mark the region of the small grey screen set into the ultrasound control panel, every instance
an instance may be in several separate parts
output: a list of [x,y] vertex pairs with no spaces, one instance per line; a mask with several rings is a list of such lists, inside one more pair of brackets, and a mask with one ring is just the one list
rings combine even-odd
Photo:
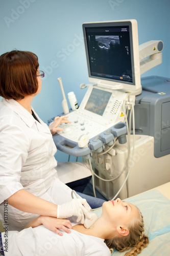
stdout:
[[110,92],[93,89],[85,106],[85,110],[102,116],[110,99],[110,96]]

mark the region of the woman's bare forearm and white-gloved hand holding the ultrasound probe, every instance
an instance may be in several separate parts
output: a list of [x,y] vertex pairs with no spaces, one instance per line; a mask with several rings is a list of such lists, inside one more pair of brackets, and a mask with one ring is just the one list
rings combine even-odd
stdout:
[[84,215],[91,217],[90,206],[85,199],[72,199],[62,205],[56,205],[44,199],[38,198],[25,189],[20,189],[8,198],[9,205],[25,212],[42,216],[66,219],[77,216],[77,222],[84,223]]

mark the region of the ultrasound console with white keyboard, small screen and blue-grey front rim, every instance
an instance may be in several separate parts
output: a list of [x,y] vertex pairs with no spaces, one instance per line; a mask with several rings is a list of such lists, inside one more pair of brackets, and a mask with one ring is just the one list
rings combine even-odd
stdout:
[[[103,143],[109,143],[114,139],[114,125],[125,120],[124,100],[127,93],[103,89],[98,86],[89,86],[79,109],[67,114],[71,123],[61,124],[63,131],[54,136],[54,141],[59,150],[65,150],[70,155],[77,148],[79,138],[87,135],[90,150],[97,150]],[[124,127],[124,131],[120,128]],[[118,126],[119,131],[125,134],[125,125]],[[114,136],[113,136],[114,134]],[[120,132],[121,135],[121,132]],[[117,134],[116,134],[117,136]],[[97,143],[99,141],[99,143]]]

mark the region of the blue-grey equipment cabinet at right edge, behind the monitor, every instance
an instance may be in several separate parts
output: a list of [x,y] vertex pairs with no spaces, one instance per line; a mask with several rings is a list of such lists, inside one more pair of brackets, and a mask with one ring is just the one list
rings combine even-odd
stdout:
[[167,78],[141,79],[143,91],[136,97],[135,133],[154,137],[154,156],[170,154],[170,88]]

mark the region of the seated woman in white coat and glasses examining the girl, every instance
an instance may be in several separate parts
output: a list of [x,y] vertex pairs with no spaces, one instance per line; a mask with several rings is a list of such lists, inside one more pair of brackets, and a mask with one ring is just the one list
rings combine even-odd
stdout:
[[[56,178],[52,134],[68,122],[66,117],[48,127],[31,106],[43,76],[32,52],[15,50],[0,56],[0,217],[8,230],[20,231],[38,215],[75,215],[81,223],[84,215],[90,218],[86,200],[71,199],[71,189]],[[58,228],[69,232],[70,222],[60,219]]]

